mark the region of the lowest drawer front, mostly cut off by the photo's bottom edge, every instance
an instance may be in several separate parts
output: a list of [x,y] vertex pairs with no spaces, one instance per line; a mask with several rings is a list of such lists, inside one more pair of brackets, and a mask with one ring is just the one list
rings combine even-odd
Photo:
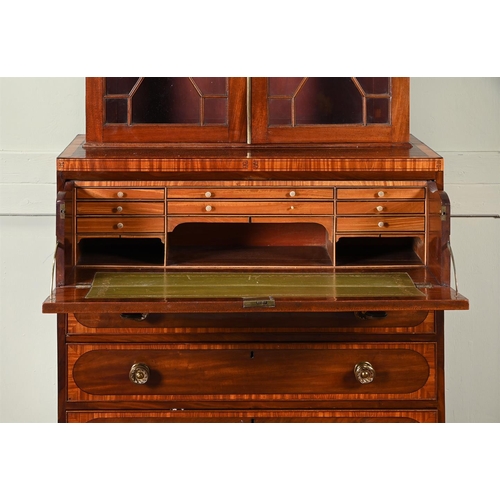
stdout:
[[69,423],[436,423],[435,410],[70,411]]

